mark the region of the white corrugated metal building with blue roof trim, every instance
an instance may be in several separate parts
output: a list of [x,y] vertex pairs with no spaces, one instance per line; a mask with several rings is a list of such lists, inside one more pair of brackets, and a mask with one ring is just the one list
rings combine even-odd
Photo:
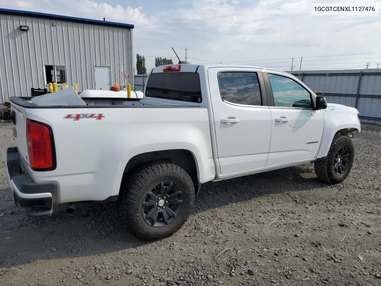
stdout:
[[131,24],[0,9],[0,103],[56,82],[78,90],[134,83]]

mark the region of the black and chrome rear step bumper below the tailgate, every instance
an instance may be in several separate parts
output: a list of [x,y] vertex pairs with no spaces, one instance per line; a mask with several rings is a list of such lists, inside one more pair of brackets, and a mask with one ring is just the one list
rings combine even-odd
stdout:
[[5,162],[16,206],[23,208],[29,217],[51,215],[58,205],[57,185],[35,183],[25,172],[17,147],[7,149]]

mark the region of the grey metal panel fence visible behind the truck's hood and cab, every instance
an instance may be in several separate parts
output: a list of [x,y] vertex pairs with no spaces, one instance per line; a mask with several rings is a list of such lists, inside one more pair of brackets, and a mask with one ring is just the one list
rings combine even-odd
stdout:
[[[357,108],[361,122],[381,124],[381,69],[288,72],[328,102]],[[143,91],[146,80],[146,74],[135,75],[135,89]]]

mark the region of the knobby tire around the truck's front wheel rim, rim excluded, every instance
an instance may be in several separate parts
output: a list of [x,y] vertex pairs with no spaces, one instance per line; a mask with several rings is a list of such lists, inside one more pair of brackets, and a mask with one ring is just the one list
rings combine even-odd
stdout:
[[[334,170],[335,155],[342,148],[347,147],[349,151],[349,163],[343,174],[338,175]],[[323,182],[329,184],[338,184],[343,182],[351,171],[354,159],[354,147],[352,140],[344,135],[336,134],[333,137],[330,150],[328,151],[327,157],[324,160],[315,162],[315,173],[317,177]]]

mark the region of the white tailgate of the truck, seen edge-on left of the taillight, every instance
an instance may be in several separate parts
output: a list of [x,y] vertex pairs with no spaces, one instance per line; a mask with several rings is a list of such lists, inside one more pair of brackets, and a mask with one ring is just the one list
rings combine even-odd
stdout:
[[29,165],[28,146],[26,138],[25,108],[11,102],[11,122],[13,129],[14,146],[17,146],[20,157]]

